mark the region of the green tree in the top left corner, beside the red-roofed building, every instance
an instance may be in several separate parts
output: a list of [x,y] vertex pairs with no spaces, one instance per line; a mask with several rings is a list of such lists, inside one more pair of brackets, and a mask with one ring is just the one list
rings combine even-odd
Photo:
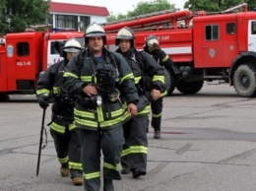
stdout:
[[44,24],[50,0],[1,0],[0,34],[24,32],[31,25]]

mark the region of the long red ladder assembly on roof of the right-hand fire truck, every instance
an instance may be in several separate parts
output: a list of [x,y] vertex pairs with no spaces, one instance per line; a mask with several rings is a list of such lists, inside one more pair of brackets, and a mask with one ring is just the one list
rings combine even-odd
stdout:
[[[144,31],[147,29],[157,29],[162,26],[175,28],[178,21],[185,21],[185,25],[188,26],[190,20],[195,15],[189,10],[166,10],[105,24],[103,28],[105,32],[117,32],[123,27],[128,27],[132,30],[143,29]],[[199,15],[205,15],[205,12],[200,12]]]

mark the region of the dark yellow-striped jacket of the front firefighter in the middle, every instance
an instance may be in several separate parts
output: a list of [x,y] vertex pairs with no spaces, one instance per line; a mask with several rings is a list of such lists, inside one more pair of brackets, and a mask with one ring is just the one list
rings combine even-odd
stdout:
[[[99,71],[103,71],[104,76],[108,79],[99,79],[97,77]],[[103,75],[102,78],[104,78]],[[111,94],[108,84],[111,84],[109,85],[111,90],[118,90],[121,93],[117,100],[112,101],[107,97]],[[94,102],[93,99],[96,97],[85,96],[83,89],[87,85],[95,85],[99,95],[101,92],[108,93],[100,95],[102,97],[101,105],[84,103],[85,99],[92,99]],[[63,88],[70,95],[79,97],[74,110],[76,125],[95,131],[98,126],[101,129],[106,129],[120,125],[129,117],[127,103],[137,102],[139,99],[134,85],[134,76],[128,64],[120,54],[106,49],[103,49],[99,59],[96,59],[89,50],[84,50],[83,53],[73,56],[65,69]]]

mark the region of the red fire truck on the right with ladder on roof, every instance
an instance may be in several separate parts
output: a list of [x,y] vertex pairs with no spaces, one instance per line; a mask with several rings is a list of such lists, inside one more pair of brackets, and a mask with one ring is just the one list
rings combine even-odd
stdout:
[[196,94],[205,81],[229,83],[239,96],[256,95],[256,12],[247,11],[246,3],[222,13],[161,12],[106,25],[109,49],[116,49],[115,35],[123,27],[134,30],[138,49],[148,35],[159,37],[174,61],[168,95],[174,88]]

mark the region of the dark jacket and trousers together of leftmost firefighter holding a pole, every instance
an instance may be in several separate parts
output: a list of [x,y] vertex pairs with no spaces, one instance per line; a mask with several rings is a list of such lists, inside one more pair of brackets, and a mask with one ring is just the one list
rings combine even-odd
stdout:
[[71,178],[82,176],[78,129],[74,121],[74,99],[62,91],[62,77],[68,60],[51,65],[37,82],[37,96],[52,96],[50,133],[57,157],[62,165],[69,164]]

